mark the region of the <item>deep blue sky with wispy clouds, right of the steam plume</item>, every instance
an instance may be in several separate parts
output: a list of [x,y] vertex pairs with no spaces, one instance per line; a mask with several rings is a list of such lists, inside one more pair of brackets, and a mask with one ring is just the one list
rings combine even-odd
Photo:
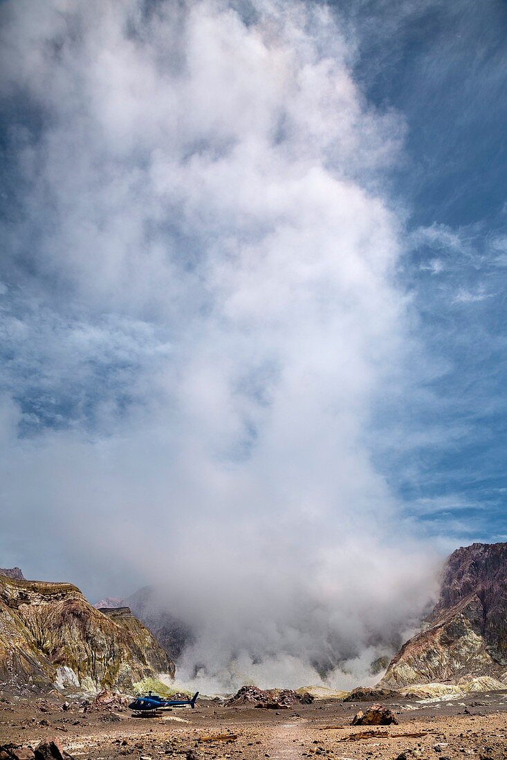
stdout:
[[415,481],[392,477],[403,497],[435,500],[435,512],[421,516],[426,529],[502,540],[507,5],[401,7],[407,13],[397,16],[393,4],[352,5],[368,19],[356,71],[368,100],[407,122],[393,189],[407,204],[414,245],[400,276],[442,362],[427,386],[435,403],[407,398],[405,411],[415,426],[455,432],[418,452]]

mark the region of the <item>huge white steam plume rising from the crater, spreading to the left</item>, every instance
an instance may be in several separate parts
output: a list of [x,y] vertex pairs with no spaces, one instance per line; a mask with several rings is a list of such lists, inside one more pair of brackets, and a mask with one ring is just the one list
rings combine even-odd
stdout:
[[407,346],[403,123],[317,4],[2,13],[6,551],[163,584],[189,677],[347,684],[433,572],[369,435]]

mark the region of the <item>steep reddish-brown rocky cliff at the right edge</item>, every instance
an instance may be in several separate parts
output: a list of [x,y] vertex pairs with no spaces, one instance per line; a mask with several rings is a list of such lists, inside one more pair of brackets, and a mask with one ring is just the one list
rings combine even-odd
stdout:
[[507,543],[474,543],[448,558],[440,597],[422,630],[395,655],[381,686],[507,683]]

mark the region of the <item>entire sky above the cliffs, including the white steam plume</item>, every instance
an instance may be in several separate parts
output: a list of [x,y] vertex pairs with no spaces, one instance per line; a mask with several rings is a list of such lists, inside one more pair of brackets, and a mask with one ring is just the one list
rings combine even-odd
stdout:
[[0,565],[366,673],[507,536],[507,5],[0,14]]

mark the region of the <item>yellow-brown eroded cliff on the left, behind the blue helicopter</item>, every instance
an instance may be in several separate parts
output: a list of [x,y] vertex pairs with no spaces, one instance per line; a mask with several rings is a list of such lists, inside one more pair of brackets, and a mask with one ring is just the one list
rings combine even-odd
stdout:
[[0,681],[8,688],[132,689],[174,663],[130,610],[104,614],[72,584],[0,576]]

